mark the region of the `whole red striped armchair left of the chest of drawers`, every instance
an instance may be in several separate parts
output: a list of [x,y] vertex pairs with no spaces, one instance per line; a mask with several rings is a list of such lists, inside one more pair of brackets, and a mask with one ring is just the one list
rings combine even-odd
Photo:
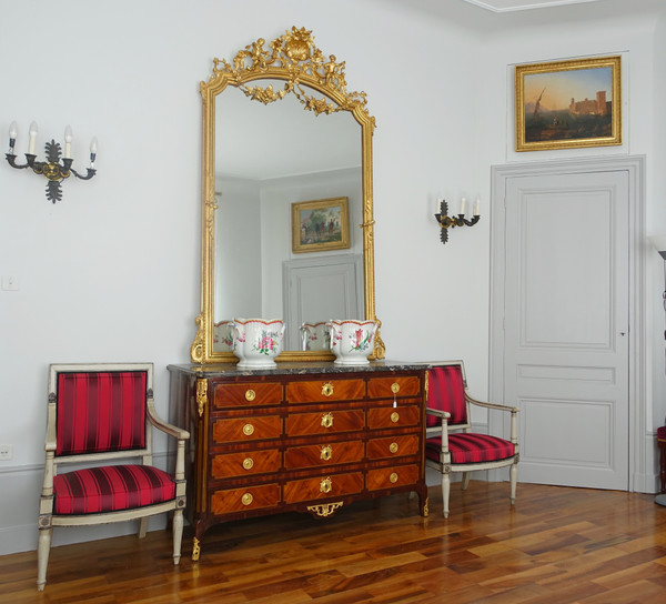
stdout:
[[[152,376],[152,363],[50,365],[39,591],[47,583],[53,526],[139,519],[143,537],[149,516],[173,512],[173,563],[179,563],[190,434],[158,417]],[[152,465],[152,426],[178,440],[173,475]],[[83,469],[59,473],[74,463]]]

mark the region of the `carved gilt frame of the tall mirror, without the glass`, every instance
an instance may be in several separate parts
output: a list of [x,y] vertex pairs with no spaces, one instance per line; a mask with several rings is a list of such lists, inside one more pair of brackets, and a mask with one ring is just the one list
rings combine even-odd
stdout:
[[[312,32],[293,27],[270,44],[259,39],[240,50],[231,62],[214,59],[213,73],[201,82],[203,110],[202,141],[202,223],[201,223],[201,312],[196,316],[196,335],[190,348],[193,363],[229,363],[238,359],[232,352],[213,350],[215,295],[215,98],[226,87],[241,90],[250,101],[264,104],[279,102],[292,94],[306,111],[316,115],[349,111],[361,125],[362,144],[362,215],[364,309],[365,320],[381,322],[375,316],[374,299],[374,218],[372,197],[372,134],[375,120],[366,109],[364,92],[347,92],[345,63],[327,59],[314,46]],[[262,82],[262,80],[264,80]],[[275,81],[283,87],[273,85]],[[232,319],[232,318],[229,318]],[[333,318],[329,318],[333,319]],[[345,318],[346,319],[346,318]],[[384,343],[377,329],[371,359],[383,359]],[[284,351],[278,362],[332,361],[329,351]]]

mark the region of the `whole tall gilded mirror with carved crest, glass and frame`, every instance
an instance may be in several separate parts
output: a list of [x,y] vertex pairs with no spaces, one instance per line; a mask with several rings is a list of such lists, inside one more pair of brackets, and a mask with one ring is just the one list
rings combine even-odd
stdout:
[[[231,62],[215,59],[211,78],[201,82],[201,312],[192,362],[238,360],[224,332],[236,316],[284,320],[289,338],[279,362],[333,360],[325,346],[310,350],[304,325],[317,329],[330,319],[380,323],[375,121],[365,93],[347,92],[344,70],[344,62],[315,47],[311,31],[293,27],[270,43],[249,44]],[[344,213],[334,214],[337,208]],[[321,251],[316,239],[299,245],[294,212],[322,209],[334,217],[329,234],[339,219],[349,220],[346,239]],[[371,359],[384,353],[377,330]]]

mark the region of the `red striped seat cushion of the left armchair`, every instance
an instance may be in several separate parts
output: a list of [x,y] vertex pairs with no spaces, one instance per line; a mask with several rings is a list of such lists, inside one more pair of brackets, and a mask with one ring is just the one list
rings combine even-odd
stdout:
[[97,514],[173,500],[175,483],[150,465],[105,465],[57,475],[53,495],[54,514]]

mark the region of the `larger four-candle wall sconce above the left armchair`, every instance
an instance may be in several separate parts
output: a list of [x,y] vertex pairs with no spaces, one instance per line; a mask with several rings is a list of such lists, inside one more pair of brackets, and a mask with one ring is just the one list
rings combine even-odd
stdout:
[[4,157],[12,168],[22,170],[23,168],[31,168],[36,174],[42,174],[48,179],[47,182],[47,199],[53,203],[62,199],[62,187],[61,182],[69,178],[70,174],[74,174],[78,179],[90,180],[97,173],[94,170],[94,160],[97,158],[97,139],[93,137],[90,142],[90,168],[87,169],[85,175],[80,174],[72,168],[73,159],[71,157],[72,150],[72,129],[68,125],[64,129],[64,153],[62,163],[60,163],[60,154],[62,152],[60,143],[51,140],[44,145],[44,152],[47,161],[37,161],[34,154],[34,145],[37,142],[37,123],[32,122],[29,130],[28,139],[28,153],[26,153],[26,163],[17,163],[17,155],[14,154],[14,145],[17,142],[18,127],[17,122],[11,122],[9,127],[9,153]]

